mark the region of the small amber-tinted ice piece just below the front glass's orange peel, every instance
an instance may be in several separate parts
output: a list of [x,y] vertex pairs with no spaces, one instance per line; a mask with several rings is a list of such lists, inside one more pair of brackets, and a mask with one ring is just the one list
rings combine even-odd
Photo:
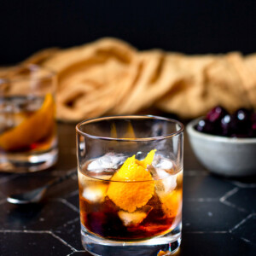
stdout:
[[145,206],[135,212],[119,211],[118,215],[125,226],[137,225],[143,222],[152,209],[153,207]]

